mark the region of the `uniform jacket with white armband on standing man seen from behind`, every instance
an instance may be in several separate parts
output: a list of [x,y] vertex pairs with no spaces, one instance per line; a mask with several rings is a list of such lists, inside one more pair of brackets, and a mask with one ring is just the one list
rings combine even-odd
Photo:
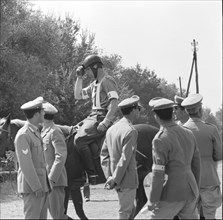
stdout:
[[[168,176],[165,183],[164,173]],[[200,154],[194,135],[174,122],[166,124],[153,139],[150,201],[196,198],[199,181]]]

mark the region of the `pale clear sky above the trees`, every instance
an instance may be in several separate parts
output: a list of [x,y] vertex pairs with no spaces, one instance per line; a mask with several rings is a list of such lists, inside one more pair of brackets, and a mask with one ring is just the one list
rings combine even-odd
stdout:
[[[122,66],[155,71],[187,89],[195,39],[199,93],[203,106],[215,113],[222,106],[222,3],[198,1],[32,0],[34,9],[64,18],[95,34],[103,55],[118,54]],[[190,93],[196,93],[195,69]]]

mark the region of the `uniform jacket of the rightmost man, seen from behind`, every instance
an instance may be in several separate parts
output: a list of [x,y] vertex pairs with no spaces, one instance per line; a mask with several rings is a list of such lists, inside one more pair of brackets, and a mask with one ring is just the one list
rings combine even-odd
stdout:
[[193,132],[200,150],[201,187],[220,185],[215,162],[222,160],[222,140],[217,127],[199,118],[190,118],[184,127]]

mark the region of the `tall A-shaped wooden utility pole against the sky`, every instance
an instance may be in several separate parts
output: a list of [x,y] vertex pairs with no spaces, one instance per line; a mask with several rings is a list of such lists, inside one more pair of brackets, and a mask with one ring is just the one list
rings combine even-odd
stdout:
[[191,78],[192,78],[194,66],[195,66],[195,74],[196,74],[196,78],[195,78],[195,82],[196,82],[196,93],[199,93],[198,71],[197,71],[197,50],[198,50],[198,48],[196,47],[198,45],[198,42],[196,42],[195,40],[193,40],[193,42],[191,43],[191,45],[193,46],[193,61],[192,61],[191,71],[190,71],[190,77],[189,77],[188,85],[187,85],[186,97],[189,94],[190,82],[191,82]]

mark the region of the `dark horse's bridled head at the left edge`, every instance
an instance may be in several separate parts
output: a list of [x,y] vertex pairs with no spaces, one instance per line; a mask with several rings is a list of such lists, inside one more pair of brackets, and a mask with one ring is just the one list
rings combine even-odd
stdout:
[[13,141],[10,140],[10,114],[6,118],[0,119],[0,157],[5,157],[5,151],[12,148]]

